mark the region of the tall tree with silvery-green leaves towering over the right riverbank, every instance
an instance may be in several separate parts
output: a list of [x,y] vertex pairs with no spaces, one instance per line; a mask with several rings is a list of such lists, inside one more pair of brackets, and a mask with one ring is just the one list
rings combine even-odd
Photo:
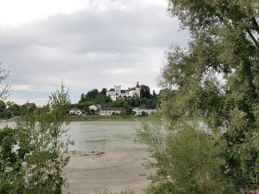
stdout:
[[[163,115],[171,130],[183,129],[179,130],[179,137],[186,134],[186,127],[190,124],[183,122],[183,115],[190,121],[204,121],[206,129],[199,132],[210,131],[214,140],[217,134],[221,134],[215,145],[221,144],[219,148],[224,152],[213,154],[217,156],[214,159],[224,159],[218,171],[222,171],[221,178],[227,176],[225,180],[236,192],[240,192],[240,188],[259,186],[258,10],[257,0],[168,0],[169,15],[178,17],[180,28],[189,30],[191,38],[185,48],[174,44],[169,46],[158,79],[158,85],[163,88]],[[219,74],[225,82],[218,80]],[[197,128],[197,125],[193,127]],[[173,142],[178,137],[172,135],[171,138]],[[197,144],[201,143],[196,140]],[[168,149],[172,147],[166,147]],[[204,154],[206,149],[200,151]],[[202,161],[200,164],[204,165]],[[166,170],[163,173],[174,177],[167,174],[168,169],[163,169]],[[195,173],[198,176],[203,172],[197,169]],[[213,174],[208,177],[214,178]],[[167,181],[177,179],[170,180],[165,176],[159,188]],[[218,184],[217,180],[214,181]],[[198,182],[189,183],[199,186]],[[195,186],[190,187],[190,191],[195,192]],[[181,188],[176,188],[180,191],[177,189]]]

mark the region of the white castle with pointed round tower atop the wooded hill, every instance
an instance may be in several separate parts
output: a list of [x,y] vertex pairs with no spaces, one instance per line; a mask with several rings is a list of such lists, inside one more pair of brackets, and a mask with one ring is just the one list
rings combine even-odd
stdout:
[[111,99],[114,101],[117,98],[123,98],[123,96],[132,97],[135,93],[138,94],[140,97],[140,87],[139,82],[137,82],[137,85],[134,88],[130,88],[127,90],[121,90],[121,86],[114,86],[114,89],[111,88],[106,92],[107,96],[111,96]]

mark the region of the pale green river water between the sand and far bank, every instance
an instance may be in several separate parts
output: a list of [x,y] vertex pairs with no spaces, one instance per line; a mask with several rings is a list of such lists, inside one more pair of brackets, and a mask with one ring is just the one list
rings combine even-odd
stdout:
[[75,140],[75,145],[70,150],[147,147],[134,141],[137,138],[133,127],[140,125],[140,121],[71,122],[67,135]]

